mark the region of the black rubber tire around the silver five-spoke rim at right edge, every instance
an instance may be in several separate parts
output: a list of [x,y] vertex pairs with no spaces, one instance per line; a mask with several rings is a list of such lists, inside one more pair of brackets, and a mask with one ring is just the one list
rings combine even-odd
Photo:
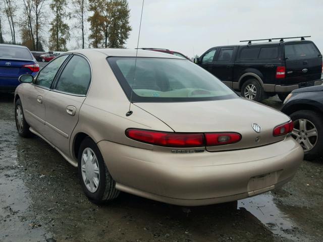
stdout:
[[[321,157],[323,155],[323,116],[322,114],[311,111],[311,110],[299,110],[296,112],[293,112],[290,117],[295,123],[295,120],[298,119],[307,119],[309,120],[316,128],[317,130],[317,141],[314,147],[304,152],[304,159],[305,160],[314,160],[315,158]],[[296,123],[297,124],[297,123]],[[297,128],[297,127],[295,127]],[[295,138],[295,135],[292,135],[293,138]],[[304,138],[303,138],[304,139]],[[308,138],[307,138],[308,139]],[[300,143],[301,141],[297,139],[297,141]]]

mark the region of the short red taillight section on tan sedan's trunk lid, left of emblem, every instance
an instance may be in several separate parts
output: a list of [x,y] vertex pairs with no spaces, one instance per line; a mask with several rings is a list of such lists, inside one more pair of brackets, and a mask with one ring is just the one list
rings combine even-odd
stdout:
[[214,133],[205,134],[206,146],[228,145],[241,140],[241,135],[237,133]]

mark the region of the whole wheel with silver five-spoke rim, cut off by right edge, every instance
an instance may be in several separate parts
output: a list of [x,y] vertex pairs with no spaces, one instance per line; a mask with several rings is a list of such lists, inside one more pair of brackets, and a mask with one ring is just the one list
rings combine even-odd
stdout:
[[292,137],[303,147],[304,159],[323,155],[323,116],[311,110],[299,110],[290,117],[294,122]]

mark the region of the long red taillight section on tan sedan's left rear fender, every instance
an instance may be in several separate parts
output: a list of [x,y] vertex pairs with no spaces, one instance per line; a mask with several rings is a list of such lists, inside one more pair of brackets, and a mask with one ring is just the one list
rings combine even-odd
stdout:
[[146,130],[126,130],[130,139],[167,147],[201,147],[204,146],[203,134],[177,134]]

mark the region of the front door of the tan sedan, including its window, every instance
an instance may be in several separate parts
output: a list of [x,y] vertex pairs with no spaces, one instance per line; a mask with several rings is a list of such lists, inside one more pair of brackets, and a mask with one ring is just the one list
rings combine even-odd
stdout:
[[[40,135],[45,135],[45,97],[48,94],[55,76],[65,62],[68,55],[49,63],[35,77],[31,85],[26,85],[24,90],[24,115],[29,126]],[[45,137],[46,138],[46,137]]]

